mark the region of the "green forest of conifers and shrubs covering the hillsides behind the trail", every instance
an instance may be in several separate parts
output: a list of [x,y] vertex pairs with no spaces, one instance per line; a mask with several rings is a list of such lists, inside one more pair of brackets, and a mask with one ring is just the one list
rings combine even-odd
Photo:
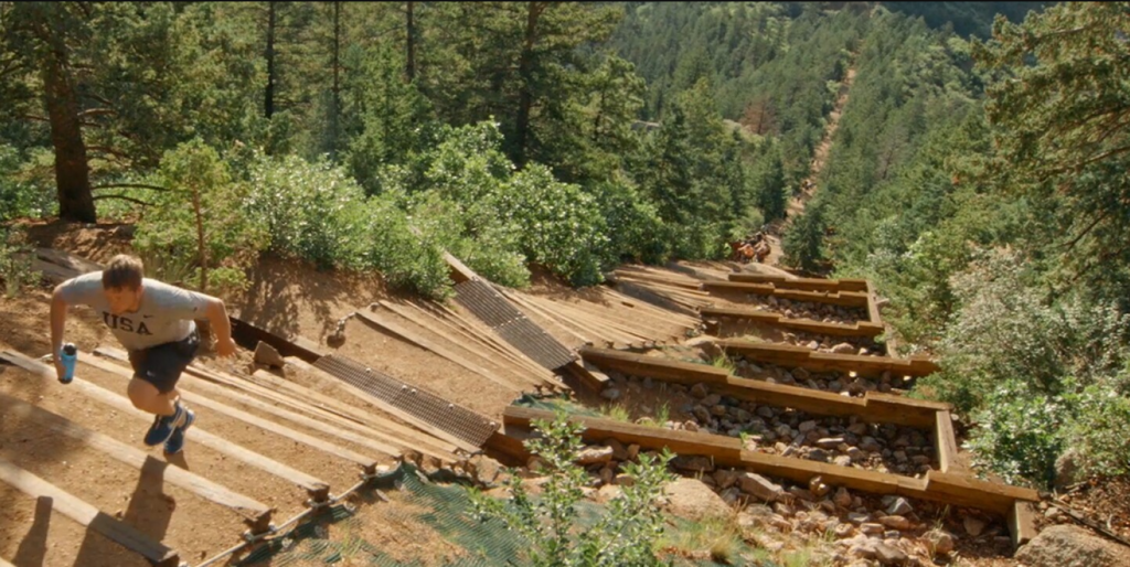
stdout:
[[785,261],[871,279],[890,337],[944,361],[918,392],[973,417],[997,472],[1050,483],[1070,447],[1123,474],[1103,433],[1130,420],[1128,23],[1124,2],[0,1],[0,216],[136,223],[158,276],[218,291],[261,251],[436,297],[443,250],[591,285],[781,220],[853,70]]

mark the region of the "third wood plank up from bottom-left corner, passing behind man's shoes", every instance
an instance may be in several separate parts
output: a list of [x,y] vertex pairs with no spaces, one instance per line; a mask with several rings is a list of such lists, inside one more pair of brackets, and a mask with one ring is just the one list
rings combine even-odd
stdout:
[[[55,369],[40,363],[38,360],[34,360],[25,355],[11,350],[0,351],[0,358],[15,364],[32,374],[50,380],[52,383],[55,382]],[[90,357],[80,356],[79,360],[85,360],[85,358]],[[146,413],[134,408],[133,404],[124,396],[92,384],[78,376],[75,377],[75,381],[71,382],[68,387],[73,387],[84,395],[110,405],[127,416],[144,420],[147,424],[153,422],[151,413]],[[200,445],[211,448],[212,451],[223,453],[232,459],[246,463],[250,466],[254,466],[261,471],[279,477],[287,482],[293,482],[315,496],[315,498],[318,496],[329,495],[330,486],[327,482],[306,474],[305,472],[292,469],[290,466],[275,461],[273,459],[236,445],[235,443],[224,439],[223,437],[212,435],[200,426],[193,426],[192,429],[189,430],[188,437]]]

